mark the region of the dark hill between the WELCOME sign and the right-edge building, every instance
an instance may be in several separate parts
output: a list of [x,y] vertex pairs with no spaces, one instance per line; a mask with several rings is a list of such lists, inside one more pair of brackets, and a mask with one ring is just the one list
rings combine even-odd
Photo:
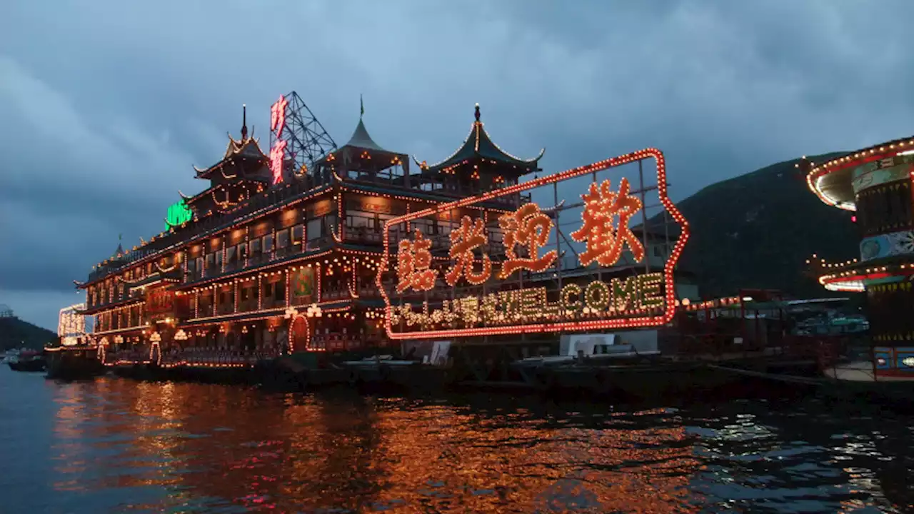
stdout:
[[[815,155],[815,163],[843,154]],[[792,160],[705,187],[677,203],[691,226],[682,267],[696,273],[702,296],[739,288],[795,296],[827,292],[804,275],[813,253],[828,261],[857,257],[852,212],[825,205]]]

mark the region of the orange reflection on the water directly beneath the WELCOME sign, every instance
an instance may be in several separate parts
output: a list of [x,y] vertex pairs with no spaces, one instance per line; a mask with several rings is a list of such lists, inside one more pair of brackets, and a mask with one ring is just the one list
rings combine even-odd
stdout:
[[698,464],[689,444],[675,444],[682,427],[563,428],[516,413],[461,411],[429,406],[379,416],[377,461],[397,477],[382,499],[440,493],[425,502],[441,508],[448,495],[468,491],[460,504],[473,511],[689,509],[685,486]]

